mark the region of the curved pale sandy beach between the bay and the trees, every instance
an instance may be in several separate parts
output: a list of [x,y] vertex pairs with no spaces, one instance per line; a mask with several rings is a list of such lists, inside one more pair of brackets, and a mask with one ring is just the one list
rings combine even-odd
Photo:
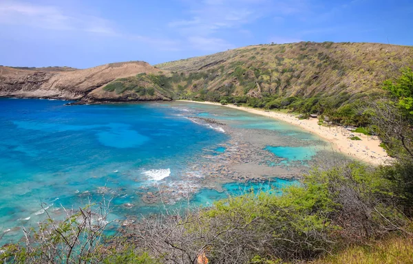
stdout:
[[[195,102],[189,100],[180,100],[181,102]],[[196,102],[200,104],[213,104],[222,106],[218,102]],[[246,111],[248,113],[255,113],[257,115],[264,115],[268,118],[275,118],[295,126],[299,126],[310,133],[314,133],[319,137],[324,138],[330,142],[333,151],[343,153],[354,159],[359,159],[372,165],[381,165],[392,162],[392,158],[387,155],[385,150],[381,148],[381,141],[377,137],[367,136],[361,133],[354,133],[361,140],[350,140],[350,131],[346,131],[341,126],[320,126],[318,118],[310,118],[309,120],[299,120],[295,115],[282,113],[278,111],[264,111],[262,109],[253,109],[248,107],[237,107],[234,104],[227,104],[224,107],[230,107]]]

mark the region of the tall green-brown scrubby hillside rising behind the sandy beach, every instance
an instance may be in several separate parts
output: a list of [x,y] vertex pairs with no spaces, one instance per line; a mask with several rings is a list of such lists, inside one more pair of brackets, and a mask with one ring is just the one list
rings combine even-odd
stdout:
[[278,98],[279,104],[291,103],[280,98],[331,98],[339,107],[379,93],[383,80],[400,67],[412,65],[413,47],[301,42],[248,46],[155,66],[193,76],[181,83],[189,98]]

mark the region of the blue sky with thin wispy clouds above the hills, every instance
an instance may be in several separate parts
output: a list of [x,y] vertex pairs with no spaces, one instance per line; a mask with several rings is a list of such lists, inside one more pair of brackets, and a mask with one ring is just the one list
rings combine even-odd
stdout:
[[260,43],[413,45],[412,0],[0,0],[0,65],[151,64]]

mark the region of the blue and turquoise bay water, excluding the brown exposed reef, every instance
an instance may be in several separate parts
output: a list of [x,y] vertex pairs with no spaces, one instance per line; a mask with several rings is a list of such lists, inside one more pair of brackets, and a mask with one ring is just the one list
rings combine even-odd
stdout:
[[[103,192],[114,197],[112,218],[158,212],[159,207],[142,201],[142,192],[156,190],[158,184],[180,190],[190,184],[187,175],[196,173],[191,171],[193,164],[204,162],[204,154],[226,152],[222,144],[230,137],[221,127],[197,124],[188,116],[224,120],[233,128],[313,139],[288,124],[203,104],[65,103],[0,98],[0,232],[9,230],[6,239],[21,234],[21,225],[36,225],[44,219],[42,203],[52,217],[59,218],[61,206],[84,206],[89,199],[99,200]],[[297,154],[274,143],[275,148],[268,151],[286,159],[313,155],[306,148]],[[226,192],[195,188],[199,192],[191,204],[207,205],[228,193],[294,183],[274,179],[267,187],[226,184]],[[134,207],[125,209],[126,203]]]

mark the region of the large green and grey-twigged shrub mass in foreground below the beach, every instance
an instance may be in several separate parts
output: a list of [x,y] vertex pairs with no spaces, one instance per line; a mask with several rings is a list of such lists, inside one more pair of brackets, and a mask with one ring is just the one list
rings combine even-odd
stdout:
[[358,163],[315,169],[282,196],[251,193],[148,220],[136,243],[167,263],[193,263],[200,253],[212,263],[313,259],[389,232],[408,234],[396,186],[383,170]]

